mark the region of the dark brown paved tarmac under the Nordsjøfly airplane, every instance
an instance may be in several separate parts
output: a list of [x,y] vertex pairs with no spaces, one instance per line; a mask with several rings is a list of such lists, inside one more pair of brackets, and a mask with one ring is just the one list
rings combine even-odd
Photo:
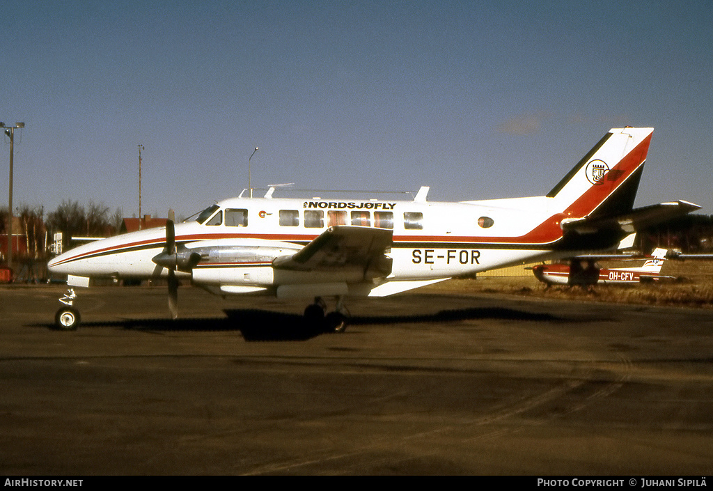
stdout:
[[[0,288],[3,475],[709,475],[713,311],[425,290]],[[228,311],[226,315],[224,310]]]

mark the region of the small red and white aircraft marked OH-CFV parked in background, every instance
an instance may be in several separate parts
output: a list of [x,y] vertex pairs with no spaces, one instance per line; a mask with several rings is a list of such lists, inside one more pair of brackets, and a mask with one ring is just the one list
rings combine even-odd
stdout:
[[567,264],[538,264],[533,266],[535,278],[548,285],[630,285],[657,281],[661,266],[666,260],[666,249],[656,248],[644,265],[637,268],[601,268],[596,261],[600,259],[622,259],[623,256],[580,256],[572,258]]

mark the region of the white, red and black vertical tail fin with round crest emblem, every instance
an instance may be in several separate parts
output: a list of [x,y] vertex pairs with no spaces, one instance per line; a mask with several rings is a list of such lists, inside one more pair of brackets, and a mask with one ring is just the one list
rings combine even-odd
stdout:
[[630,212],[654,128],[611,129],[550,191],[567,218]]

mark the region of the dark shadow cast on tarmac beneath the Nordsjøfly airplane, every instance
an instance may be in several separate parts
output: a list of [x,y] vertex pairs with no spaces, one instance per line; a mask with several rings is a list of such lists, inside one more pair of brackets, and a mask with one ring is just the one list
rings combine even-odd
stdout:
[[[84,322],[79,329],[115,327],[145,331],[235,331],[238,330],[246,341],[300,341],[309,340],[327,333],[322,325],[307,323],[302,315],[279,313],[260,309],[224,310],[226,318],[145,318],[122,319],[106,322]],[[573,319],[561,318],[549,313],[533,313],[512,308],[461,308],[441,310],[431,314],[414,315],[370,315],[354,316],[349,325],[376,325],[396,323],[450,323],[460,320],[523,320],[534,322],[561,323]],[[54,328],[42,324],[42,327]],[[349,328],[347,328],[347,333]]]

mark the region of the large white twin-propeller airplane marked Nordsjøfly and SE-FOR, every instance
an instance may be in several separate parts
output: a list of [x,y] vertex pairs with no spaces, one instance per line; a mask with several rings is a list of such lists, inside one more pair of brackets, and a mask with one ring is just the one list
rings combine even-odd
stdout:
[[[227,199],[193,220],[69,250],[48,263],[69,286],[90,277],[180,278],[217,295],[314,298],[307,318],[343,330],[344,298],[381,297],[453,276],[607,250],[640,226],[689,213],[685,201],[633,208],[653,128],[612,129],[545,196],[426,200]],[[245,191],[244,191],[245,193]],[[73,289],[56,314],[76,328]],[[325,318],[324,298],[336,307]]]

